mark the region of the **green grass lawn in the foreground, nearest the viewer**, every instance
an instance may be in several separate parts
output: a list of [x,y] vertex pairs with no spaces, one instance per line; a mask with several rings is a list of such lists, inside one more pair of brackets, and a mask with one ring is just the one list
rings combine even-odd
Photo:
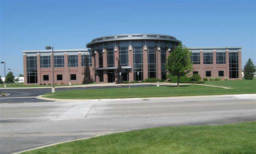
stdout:
[[255,127],[256,122],[152,128],[22,154],[255,154]]

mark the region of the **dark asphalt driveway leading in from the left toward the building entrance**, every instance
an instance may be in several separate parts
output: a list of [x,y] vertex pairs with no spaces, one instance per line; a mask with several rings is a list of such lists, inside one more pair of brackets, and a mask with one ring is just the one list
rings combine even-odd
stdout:
[[[144,87],[144,86],[155,86],[150,84],[141,84],[141,85],[131,85],[131,87]],[[56,91],[63,90],[79,90],[79,89],[104,89],[104,88],[124,88],[128,85],[116,85],[116,86],[93,86],[93,87],[73,87],[73,88],[63,88],[58,87]],[[35,99],[36,96],[51,92],[50,87],[45,88],[29,88],[29,89],[3,89],[1,90],[5,93],[10,94],[9,96],[0,97],[0,103],[31,103],[31,102],[42,102],[42,100]],[[21,98],[22,97],[22,98]],[[31,98],[34,97],[34,98]],[[43,101],[51,102],[51,101]]]

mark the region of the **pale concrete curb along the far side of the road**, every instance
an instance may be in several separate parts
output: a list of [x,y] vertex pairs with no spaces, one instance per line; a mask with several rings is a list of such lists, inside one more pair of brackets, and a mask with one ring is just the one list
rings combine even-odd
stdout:
[[179,98],[206,98],[206,97],[237,97],[237,96],[255,96],[256,94],[230,94],[230,95],[200,95],[200,96],[173,96],[173,97],[142,97],[142,98],[115,98],[115,99],[55,99],[45,98],[37,96],[37,99],[48,100],[48,101],[115,101],[115,100],[143,100],[143,99],[179,99]]

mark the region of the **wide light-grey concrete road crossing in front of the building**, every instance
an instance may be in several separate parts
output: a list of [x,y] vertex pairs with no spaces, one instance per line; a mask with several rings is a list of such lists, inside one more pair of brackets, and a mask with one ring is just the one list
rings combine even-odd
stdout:
[[144,128],[256,120],[256,95],[0,104],[0,153]]

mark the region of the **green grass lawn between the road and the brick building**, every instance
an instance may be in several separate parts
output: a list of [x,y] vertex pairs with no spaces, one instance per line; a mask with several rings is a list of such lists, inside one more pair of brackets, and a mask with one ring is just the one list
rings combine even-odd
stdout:
[[207,84],[233,87],[233,89],[206,87],[206,86],[200,86],[200,85],[194,84],[194,85],[183,85],[180,87],[175,87],[175,86],[132,87],[130,91],[128,91],[128,88],[57,91],[54,94],[52,93],[44,94],[48,96],[43,96],[43,97],[58,98],[58,99],[107,99],[107,98],[171,97],[171,96],[256,93],[256,80],[212,81],[212,82],[208,81]]

